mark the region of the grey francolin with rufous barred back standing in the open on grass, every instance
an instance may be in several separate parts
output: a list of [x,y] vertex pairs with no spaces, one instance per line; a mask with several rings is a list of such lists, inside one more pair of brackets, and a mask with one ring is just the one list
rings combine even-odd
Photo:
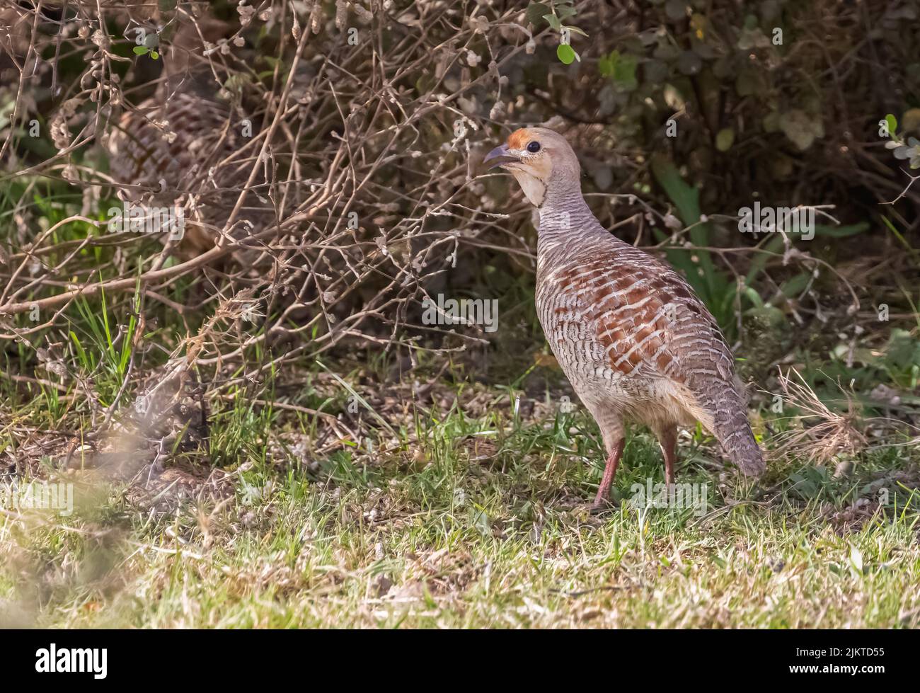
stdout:
[[539,210],[540,324],[606,447],[594,505],[609,496],[627,422],[658,437],[668,484],[677,427],[696,421],[742,473],[761,474],[764,458],[715,318],[677,272],[598,222],[581,196],[581,167],[565,138],[523,128],[486,162],[508,170]]

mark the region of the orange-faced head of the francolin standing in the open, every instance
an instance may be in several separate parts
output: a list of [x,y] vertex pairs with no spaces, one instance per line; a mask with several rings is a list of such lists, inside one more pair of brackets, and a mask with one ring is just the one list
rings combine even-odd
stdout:
[[486,156],[489,168],[502,167],[520,183],[523,194],[539,207],[546,192],[554,188],[579,185],[581,167],[566,138],[546,128],[515,130],[508,142]]

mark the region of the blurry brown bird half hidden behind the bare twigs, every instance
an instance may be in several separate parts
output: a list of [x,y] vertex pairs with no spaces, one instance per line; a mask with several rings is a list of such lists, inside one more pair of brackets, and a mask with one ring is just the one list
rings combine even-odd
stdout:
[[[213,248],[224,229],[253,159],[246,154],[250,140],[241,135],[242,117],[217,98],[223,76],[215,76],[203,55],[204,45],[224,39],[232,26],[208,15],[175,21],[176,36],[159,58],[164,66],[155,94],[124,110],[106,144],[121,197],[143,206],[190,208],[180,249],[198,255]],[[259,176],[256,191],[247,193],[233,236],[245,237],[269,216],[267,202],[259,202],[262,183]]]

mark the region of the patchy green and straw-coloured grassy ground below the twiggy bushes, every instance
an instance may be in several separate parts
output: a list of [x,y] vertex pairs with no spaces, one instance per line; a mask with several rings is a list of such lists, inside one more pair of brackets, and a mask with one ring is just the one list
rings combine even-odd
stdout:
[[[171,285],[170,296],[196,306],[206,295],[196,282]],[[706,507],[632,503],[634,485],[663,480],[657,445],[637,431],[618,504],[593,515],[597,429],[564,406],[576,399],[540,353],[533,287],[518,284],[483,292],[503,296],[510,328],[488,349],[449,360],[420,352],[408,374],[380,352],[301,358],[259,382],[228,361],[211,371],[204,401],[190,375],[155,427],[139,398],[163,381],[170,352],[191,351],[194,320],[140,293],[98,295],[68,306],[66,329],[7,342],[0,491],[60,481],[74,484],[76,502],[69,515],[0,502],[0,625],[918,625],[913,326],[841,351],[843,338],[823,327],[791,341],[782,318],[778,337],[740,350],[746,379],[765,383],[756,368],[775,369],[758,364],[782,359],[822,384],[822,397],[848,384],[865,409],[823,410],[807,388],[791,406],[796,391],[770,375],[776,392],[752,408],[775,453],[764,479],[739,479],[691,431],[678,480]],[[259,329],[238,316],[222,324]],[[255,351],[249,365],[265,356]],[[817,414],[805,422],[809,406]],[[796,432],[816,445],[776,453]],[[817,463],[811,453],[831,454]]]

